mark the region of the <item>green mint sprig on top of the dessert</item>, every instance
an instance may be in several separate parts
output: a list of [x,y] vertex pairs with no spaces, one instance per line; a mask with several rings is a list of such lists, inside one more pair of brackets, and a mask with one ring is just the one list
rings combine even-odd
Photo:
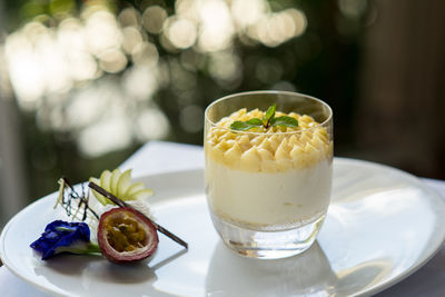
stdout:
[[239,121],[239,120],[234,121],[230,125],[230,129],[237,131],[247,131],[253,128],[260,128],[260,127],[264,127],[265,129],[277,126],[290,127],[290,128],[298,127],[298,121],[291,117],[281,116],[276,118],[275,117],[276,108],[277,108],[276,105],[270,106],[261,119],[253,118],[246,121]]

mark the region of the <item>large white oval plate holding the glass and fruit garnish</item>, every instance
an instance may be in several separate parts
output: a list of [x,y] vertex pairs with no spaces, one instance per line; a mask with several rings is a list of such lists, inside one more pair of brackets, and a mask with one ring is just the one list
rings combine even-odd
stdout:
[[150,263],[118,266],[101,257],[42,261],[29,248],[56,219],[56,195],[20,211],[4,227],[4,265],[62,296],[346,296],[370,295],[425,264],[445,237],[445,204],[417,178],[370,162],[335,159],[334,194],[316,244],[281,260],[243,258],[219,240],[207,211],[202,171],[142,177],[155,189],[160,225],[189,242],[161,236]]

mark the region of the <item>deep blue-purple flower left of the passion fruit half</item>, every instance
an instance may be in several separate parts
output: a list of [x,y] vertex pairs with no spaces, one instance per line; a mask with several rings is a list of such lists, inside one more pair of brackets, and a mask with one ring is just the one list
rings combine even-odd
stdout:
[[48,224],[41,237],[31,244],[31,248],[39,251],[43,260],[65,251],[100,253],[99,247],[90,241],[90,229],[87,224],[62,220]]

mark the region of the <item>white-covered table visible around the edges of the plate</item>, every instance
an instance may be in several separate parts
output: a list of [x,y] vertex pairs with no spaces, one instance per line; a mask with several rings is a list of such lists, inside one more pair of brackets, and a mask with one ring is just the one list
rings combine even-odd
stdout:
[[[201,147],[174,142],[151,141],[136,151],[121,166],[132,168],[135,177],[147,174],[204,168]],[[423,179],[435,188],[445,199],[445,181]],[[445,246],[421,269],[403,281],[378,294],[387,296],[444,296],[445,295]],[[33,286],[21,280],[4,266],[0,267],[0,296],[2,297],[48,297]]]

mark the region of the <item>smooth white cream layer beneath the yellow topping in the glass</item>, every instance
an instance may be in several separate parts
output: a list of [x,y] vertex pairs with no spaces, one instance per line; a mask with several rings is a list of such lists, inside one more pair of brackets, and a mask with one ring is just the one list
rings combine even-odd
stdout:
[[206,159],[210,211],[249,229],[284,230],[306,225],[326,212],[332,161],[285,172],[247,172]]

